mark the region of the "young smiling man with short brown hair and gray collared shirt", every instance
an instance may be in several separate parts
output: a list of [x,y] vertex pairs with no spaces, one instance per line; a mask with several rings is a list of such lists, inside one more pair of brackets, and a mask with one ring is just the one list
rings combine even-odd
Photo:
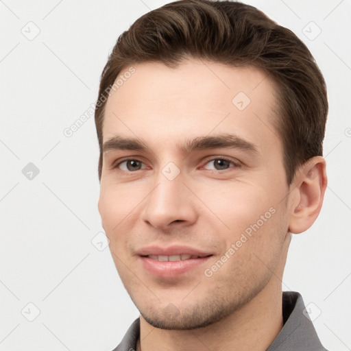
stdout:
[[306,46],[250,5],[176,1],[121,35],[99,212],[141,315],[115,350],[325,350],[281,280],[322,207],[327,112]]

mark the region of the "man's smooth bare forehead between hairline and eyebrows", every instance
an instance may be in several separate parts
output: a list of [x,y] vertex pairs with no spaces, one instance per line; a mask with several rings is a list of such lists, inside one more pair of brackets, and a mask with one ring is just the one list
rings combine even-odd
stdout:
[[133,69],[108,98],[104,141],[119,134],[171,147],[171,141],[233,132],[253,143],[279,143],[276,89],[265,71],[200,60],[177,68],[146,62]]

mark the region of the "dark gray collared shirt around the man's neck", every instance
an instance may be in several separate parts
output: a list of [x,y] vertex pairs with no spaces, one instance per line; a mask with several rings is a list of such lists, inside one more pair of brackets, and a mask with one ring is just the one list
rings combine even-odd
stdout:
[[[319,341],[315,328],[306,313],[300,293],[282,293],[284,326],[267,351],[326,351]],[[121,343],[113,351],[134,351],[140,335],[140,319],[136,319]]]

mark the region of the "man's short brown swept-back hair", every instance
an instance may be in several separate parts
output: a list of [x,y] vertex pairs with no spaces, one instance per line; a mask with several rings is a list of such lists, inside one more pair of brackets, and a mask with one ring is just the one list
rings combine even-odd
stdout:
[[104,93],[132,64],[161,62],[176,67],[186,58],[256,66],[274,80],[278,91],[275,125],[284,147],[288,184],[308,158],[322,156],[328,114],[326,83],[306,45],[251,5],[182,0],[141,16],[119,36],[108,57],[95,110],[99,179],[107,100]]

